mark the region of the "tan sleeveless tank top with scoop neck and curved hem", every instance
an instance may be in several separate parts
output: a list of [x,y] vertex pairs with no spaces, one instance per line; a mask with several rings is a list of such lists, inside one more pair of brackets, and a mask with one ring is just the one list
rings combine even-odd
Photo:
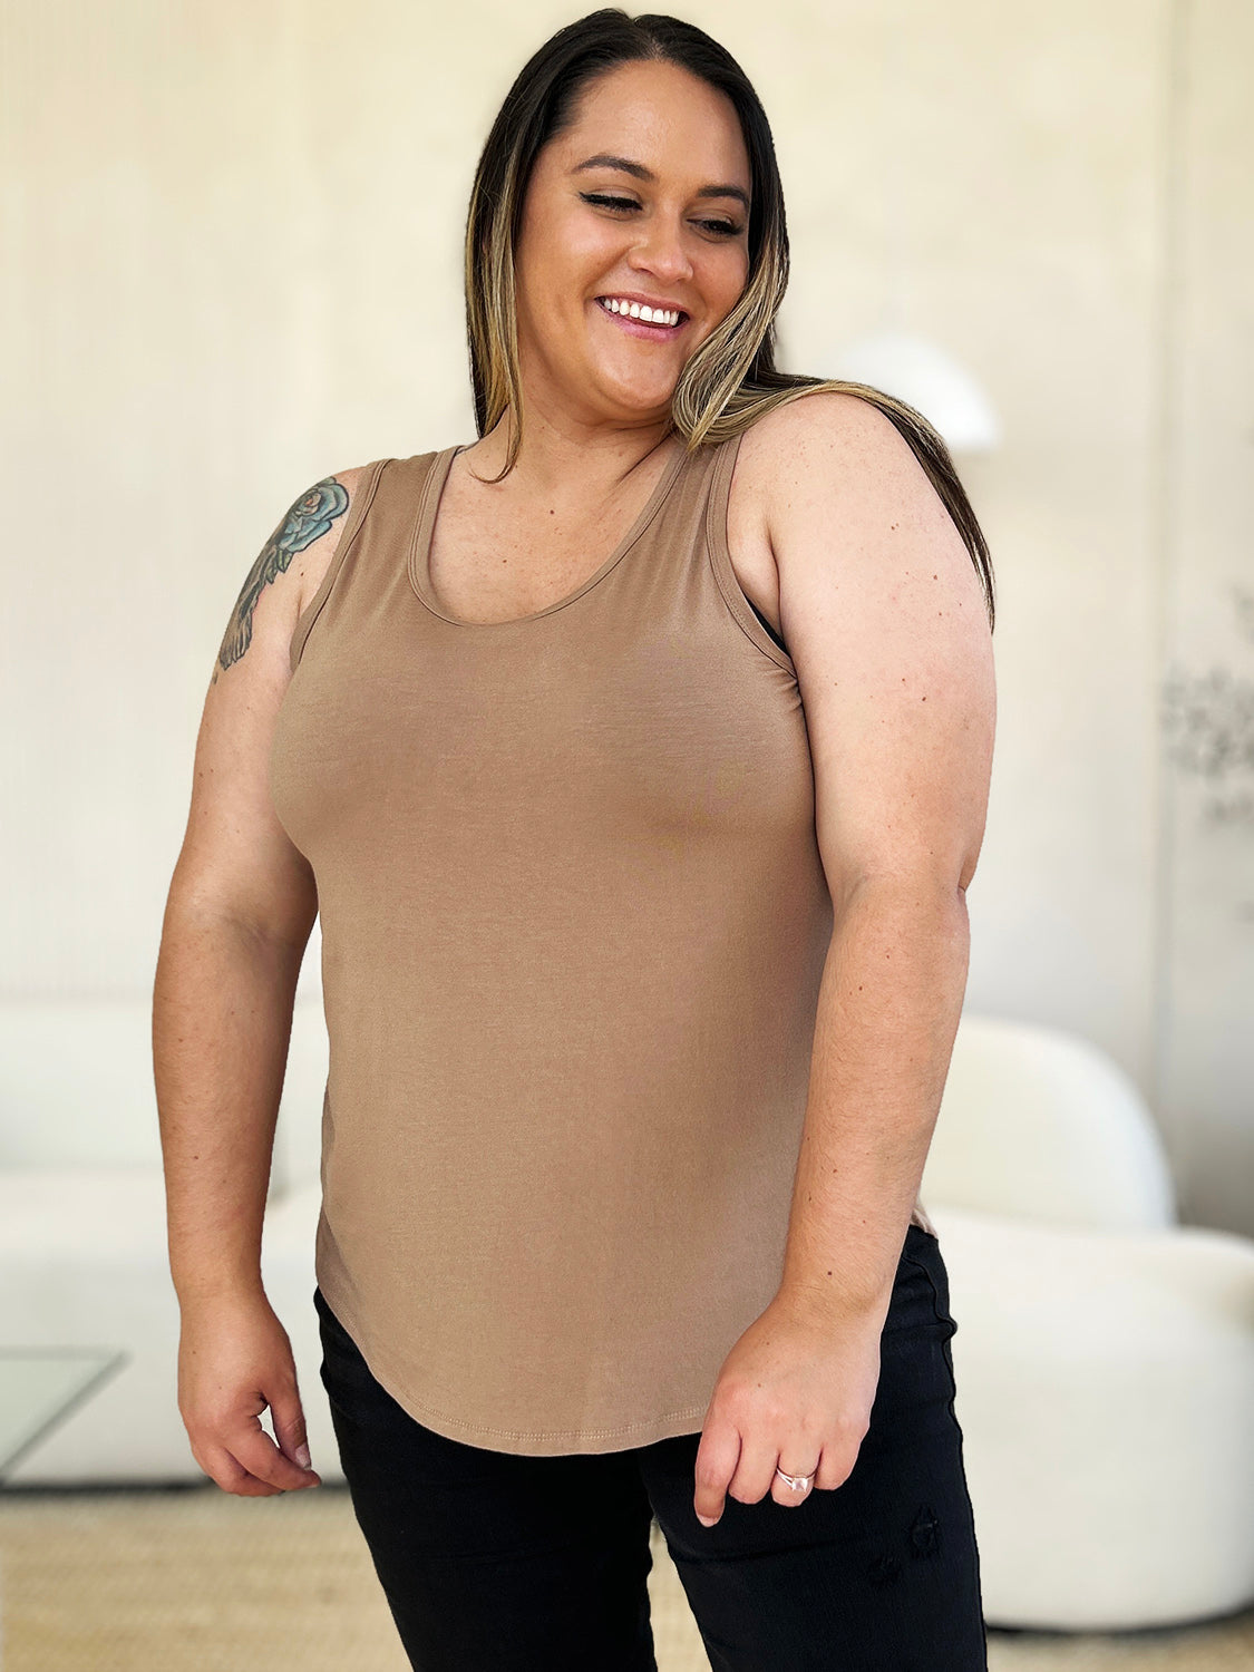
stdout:
[[594,575],[493,624],[431,590],[460,448],[378,460],[291,642],[318,1284],[470,1445],[697,1433],[782,1276],[833,906],[793,662],[727,552],[737,446],[679,450]]

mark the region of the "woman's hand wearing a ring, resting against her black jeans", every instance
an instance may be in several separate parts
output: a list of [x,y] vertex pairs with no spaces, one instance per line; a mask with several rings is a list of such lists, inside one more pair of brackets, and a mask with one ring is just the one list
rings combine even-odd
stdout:
[[879,1384],[884,1304],[833,1314],[774,1297],[731,1349],[706,1411],[696,1460],[697,1520],[712,1527],[724,1495],[757,1503],[769,1491],[796,1506],[809,1491],[776,1475],[814,1475],[814,1488],[841,1486],[871,1426]]

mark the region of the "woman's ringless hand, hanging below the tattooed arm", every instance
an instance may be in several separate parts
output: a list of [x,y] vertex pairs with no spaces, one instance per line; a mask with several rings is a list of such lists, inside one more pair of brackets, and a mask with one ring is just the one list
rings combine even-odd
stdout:
[[[181,1306],[179,1415],[204,1473],[241,1498],[321,1486],[304,1466],[309,1451],[291,1341],[266,1296],[217,1294]],[[278,1445],[261,1426],[266,1406]]]

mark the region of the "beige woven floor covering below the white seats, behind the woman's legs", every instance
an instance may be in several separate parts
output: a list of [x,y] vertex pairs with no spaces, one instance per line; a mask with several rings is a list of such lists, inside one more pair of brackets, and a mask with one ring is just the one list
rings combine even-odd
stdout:
[[[709,1672],[657,1527],[649,1588],[659,1672]],[[0,1650],[3,1672],[408,1672],[343,1486],[3,1491]],[[1254,1672],[1254,1612],[1122,1637],[990,1632],[988,1664]]]

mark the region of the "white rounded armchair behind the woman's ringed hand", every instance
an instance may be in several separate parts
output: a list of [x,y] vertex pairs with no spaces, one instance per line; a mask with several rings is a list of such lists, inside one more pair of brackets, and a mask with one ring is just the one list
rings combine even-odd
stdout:
[[1072,1035],[963,1017],[923,1200],[988,1624],[1254,1602],[1254,1241],[1177,1224],[1127,1075]]

